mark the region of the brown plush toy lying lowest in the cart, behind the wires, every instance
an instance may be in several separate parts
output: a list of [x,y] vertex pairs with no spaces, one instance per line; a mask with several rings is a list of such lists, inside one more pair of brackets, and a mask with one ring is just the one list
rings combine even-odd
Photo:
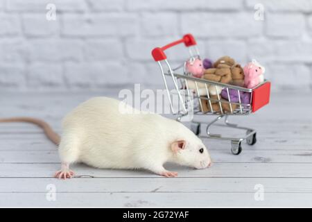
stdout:
[[[212,110],[214,112],[221,112],[220,103],[218,102],[218,96],[217,95],[210,96],[210,99],[216,100],[216,101],[211,101]],[[202,112],[211,112],[209,101],[207,99],[201,99],[201,101],[202,101]],[[221,99],[221,98],[220,98],[220,101],[221,101],[221,107],[222,107],[223,113],[231,112],[229,103],[227,103],[228,101]],[[237,108],[236,104],[231,103],[231,106],[232,106],[232,111],[236,110]]]

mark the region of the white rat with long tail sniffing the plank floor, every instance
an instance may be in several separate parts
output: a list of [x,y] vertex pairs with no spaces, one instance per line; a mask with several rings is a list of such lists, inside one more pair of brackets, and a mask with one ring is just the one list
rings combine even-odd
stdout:
[[165,162],[196,169],[211,164],[205,145],[182,123],[107,97],[89,99],[67,114],[61,139],[44,121],[25,117],[1,121],[35,123],[60,144],[62,166],[56,178],[71,178],[73,162],[106,169],[147,169],[166,177],[177,173],[164,169]]

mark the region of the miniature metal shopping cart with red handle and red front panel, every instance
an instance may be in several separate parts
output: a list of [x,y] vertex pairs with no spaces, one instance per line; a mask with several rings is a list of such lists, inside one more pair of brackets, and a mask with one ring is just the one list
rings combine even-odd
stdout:
[[[252,112],[256,112],[257,110],[259,110],[263,107],[263,105],[268,104],[270,100],[270,82],[265,80],[263,83],[257,85],[257,87],[247,89],[245,87],[239,87],[236,85],[223,84],[211,80],[205,80],[202,78],[191,77],[186,71],[186,62],[178,65],[175,68],[172,68],[167,60],[166,54],[164,53],[166,49],[182,43],[184,43],[184,45],[187,46],[189,49],[189,59],[200,57],[198,48],[196,46],[196,40],[191,34],[184,35],[181,40],[177,40],[163,47],[157,47],[152,51],[152,56],[154,60],[158,63],[162,71],[162,78],[166,87],[166,92],[172,114],[177,115],[177,121],[181,121],[183,117],[189,114],[189,112],[193,112],[194,115],[202,116],[216,115],[216,119],[210,122],[193,121],[193,119],[191,119],[191,130],[196,135],[200,135],[201,124],[207,124],[207,136],[204,137],[208,137],[211,139],[230,140],[232,145],[232,153],[235,155],[239,155],[242,150],[241,143],[243,142],[243,140],[246,140],[249,145],[253,145],[257,142],[257,132],[252,128],[241,127],[237,124],[229,123],[228,117],[230,115],[248,115]],[[165,71],[164,67],[167,67],[168,71]],[[171,85],[174,89],[174,92],[176,92],[177,94],[180,104],[182,104],[179,105],[177,109],[173,108],[173,101],[171,98],[172,90],[169,89],[170,85],[168,83],[168,79],[171,81]],[[190,89],[190,84],[193,85],[193,91],[191,91]],[[217,92],[215,96],[211,96],[209,94],[209,90],[211,90],[211,87]],[[226,90],[225,92],[227,92],[227,100],[221,98],[221,89]],[[239,95],[239,101],[231,101],[229,91],[233,92],[233,90]],[[192,92],[192,94],[190,93],[190,91]],[[246,93],[250,94],[250,99],[248,99],[248,103],[243,103],[241,101],[241,94]],[[189,97],[193,98],[192,101],[198,101],[198,105],[194,105],[193,110],[191,111],[188,108],[189,97],[185,96],[186,94],[189,95]],[[225,105],[227,105],[227,110],[224,109]],[[207,106],[208,109],[205,109],[204,106]],[[225,119],[225,124],[223,124],[222,126],[245,130],[245,135],[243,135],[242,137],[223,137],[220,134],[212,134],[210,132],[211,126],[218,120],[223,118]]]

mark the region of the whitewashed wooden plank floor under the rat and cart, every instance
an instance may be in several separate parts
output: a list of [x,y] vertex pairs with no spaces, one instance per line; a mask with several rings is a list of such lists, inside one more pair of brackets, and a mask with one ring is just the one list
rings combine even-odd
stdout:
[[[60,133],[64,114],[99,95],[107,94],[1,94],[0,118],[44,118]],[[256,114],[233,117],[257,129],[257,144],[244,143],[236,156],[229,142],[204,139],[213,166],[193,170],[168,164],[179,173],[177,178],[76,164],[76,178],[57,180],[52,176],[60,167],[58,153],[42,130],[25,123],[1,123],[0,207],[312,207],[311,96],[272,94],[270,105]],[[254,198],[257,186],[263,188],[263,200]]]

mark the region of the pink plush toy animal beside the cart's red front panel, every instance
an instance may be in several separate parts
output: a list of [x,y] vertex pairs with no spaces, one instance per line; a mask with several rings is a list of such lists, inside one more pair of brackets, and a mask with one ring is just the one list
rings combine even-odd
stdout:
[[263,70],[261,69],[261,67],[255,65],[253,62],[250,62],[247,65],[245,65],[244,67],[245,87],[247,87],[248,89],[251,89],[257,86],[260,83],[259,76],[262,75],[262,72]]

